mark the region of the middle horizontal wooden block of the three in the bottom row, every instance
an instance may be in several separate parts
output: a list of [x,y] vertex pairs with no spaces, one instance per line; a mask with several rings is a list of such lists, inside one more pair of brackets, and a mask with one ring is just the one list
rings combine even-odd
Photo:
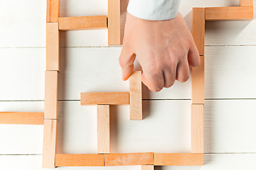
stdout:
[[105,166],[154,164],[153,153],[105,154]]

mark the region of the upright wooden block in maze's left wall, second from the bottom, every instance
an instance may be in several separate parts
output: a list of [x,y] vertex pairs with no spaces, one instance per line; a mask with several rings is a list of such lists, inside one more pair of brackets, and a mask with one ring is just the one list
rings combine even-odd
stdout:
[[46,71],[44,118],[58,118],[58,71]]

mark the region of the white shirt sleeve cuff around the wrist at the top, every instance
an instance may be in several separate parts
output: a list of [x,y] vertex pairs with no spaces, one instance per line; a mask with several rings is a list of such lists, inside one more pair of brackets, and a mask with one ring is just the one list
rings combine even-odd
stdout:
[[146,20],[169,20],[178,15],[180,0],[129,0],[127,11]]

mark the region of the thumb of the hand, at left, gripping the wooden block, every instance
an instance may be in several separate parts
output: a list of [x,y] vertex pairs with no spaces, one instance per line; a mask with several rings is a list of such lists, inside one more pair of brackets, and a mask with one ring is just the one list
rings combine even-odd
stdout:
[[132,50],[128,50],[127,47],[122,47],[122,52],[119,57],[119,64],[122,68],[122,79],[127,80],[132,74],[134,69],[134,60],[136,55]]

